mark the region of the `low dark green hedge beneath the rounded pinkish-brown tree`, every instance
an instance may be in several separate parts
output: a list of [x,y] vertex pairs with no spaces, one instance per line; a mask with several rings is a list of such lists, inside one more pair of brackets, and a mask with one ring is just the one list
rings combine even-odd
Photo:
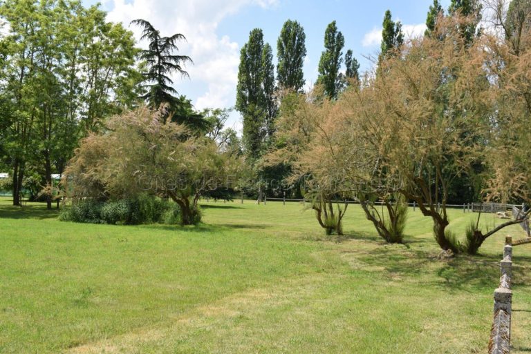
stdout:
[[180,224],[180,209],[173,201],[149,195],[116,201],[77,201],[62,210],[59,219],[90,224]]

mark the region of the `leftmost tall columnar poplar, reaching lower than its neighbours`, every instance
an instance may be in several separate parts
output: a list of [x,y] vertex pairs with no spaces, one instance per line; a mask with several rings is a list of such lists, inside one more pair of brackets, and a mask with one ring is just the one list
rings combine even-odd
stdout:
[[263,153],[263,143],[277,115],[273,69],[271,47],[263,43],[262,30],[255,28],[241,48],[236,87],[236,110],[243,117],[243,144],[252,161]]

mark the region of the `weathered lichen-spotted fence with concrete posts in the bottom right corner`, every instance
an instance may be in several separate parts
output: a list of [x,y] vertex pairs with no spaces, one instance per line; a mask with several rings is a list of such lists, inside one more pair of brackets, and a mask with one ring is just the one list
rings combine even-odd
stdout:
[[500,284],[494,291],[494,319],[490,331],[489,354],[509,354],[511,351],[512,306],[512,238],[505,238],[500,262]]

